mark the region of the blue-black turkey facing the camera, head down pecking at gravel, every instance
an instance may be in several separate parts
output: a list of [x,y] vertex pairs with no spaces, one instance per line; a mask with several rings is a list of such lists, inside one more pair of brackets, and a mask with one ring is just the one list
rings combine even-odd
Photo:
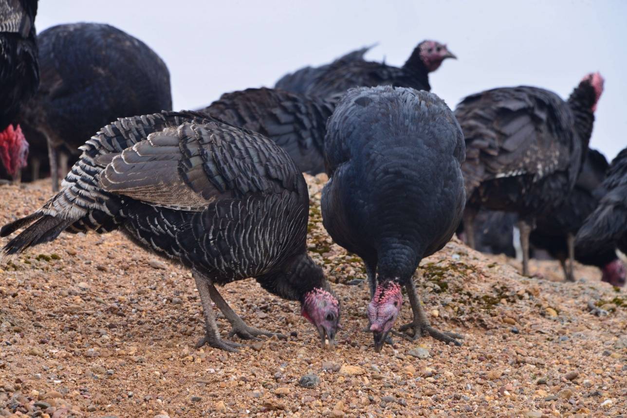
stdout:
[[381,350],[408,292],[413,338],[428,333],[460,345],[429,325],[413,274],[458,226],[465,203],[460,125],[436,95],[411,88],[353,88],[327,124],[322,220],[331,238],[364,260],[374,347]]

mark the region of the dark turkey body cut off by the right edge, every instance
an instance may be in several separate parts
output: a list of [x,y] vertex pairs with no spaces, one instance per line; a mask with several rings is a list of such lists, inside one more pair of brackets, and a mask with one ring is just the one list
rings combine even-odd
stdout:
[[610,245],[627,253],[627,148],[612,161],[603,189],[599,205],[579,228],[577,252],[587,254]]

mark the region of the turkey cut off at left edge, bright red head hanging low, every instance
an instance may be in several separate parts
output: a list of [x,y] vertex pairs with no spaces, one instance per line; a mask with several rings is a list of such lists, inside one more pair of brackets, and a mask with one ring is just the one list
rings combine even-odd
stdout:
[[19,182],[28,142],[16,117],[40,83],[35,36],[36,0],[0,0],[0,160]]

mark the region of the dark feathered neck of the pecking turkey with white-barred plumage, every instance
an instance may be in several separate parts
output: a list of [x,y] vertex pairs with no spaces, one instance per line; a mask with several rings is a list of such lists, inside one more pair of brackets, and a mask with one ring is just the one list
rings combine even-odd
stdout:
[[305,294],[315,288],[329,290],[329,283],[318,264],[303,252],[283,263],[275,273],[264,274],[256,280],[265,290],[286,300],[303,301]]

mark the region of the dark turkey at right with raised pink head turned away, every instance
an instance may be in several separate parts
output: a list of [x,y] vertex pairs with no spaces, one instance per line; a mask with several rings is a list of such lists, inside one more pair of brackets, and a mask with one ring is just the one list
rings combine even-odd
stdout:
[[464,227],[471,247],[478,209],[516,212],[522,273],[529,275],[529,234],[535,219],[555,211],[574,187],[602,92],[603,77],[592,73],[567,101],[529,86],[495,88],[461,101],[455,116],[466,142]]

